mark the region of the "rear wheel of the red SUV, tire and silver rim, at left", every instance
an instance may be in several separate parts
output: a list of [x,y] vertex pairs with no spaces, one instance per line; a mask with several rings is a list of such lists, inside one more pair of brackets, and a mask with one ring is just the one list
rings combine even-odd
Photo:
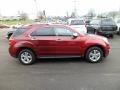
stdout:
[[24,65],[31,65],[35,62],[35,54],[29,49],[23,49],[18,55],[19,61]]

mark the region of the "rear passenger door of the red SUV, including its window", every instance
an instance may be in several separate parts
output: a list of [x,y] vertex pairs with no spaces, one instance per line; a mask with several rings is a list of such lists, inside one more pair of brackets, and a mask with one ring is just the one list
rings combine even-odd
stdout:
[[42,27],[31,33],[39,56],[50,56],[56,53],[56,35],[52,27]]

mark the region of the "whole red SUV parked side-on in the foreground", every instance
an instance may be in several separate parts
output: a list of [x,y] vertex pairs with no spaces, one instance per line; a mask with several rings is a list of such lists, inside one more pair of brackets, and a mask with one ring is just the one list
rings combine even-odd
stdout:
[[37,24],[16,30],[9,39],[9,53],[22,64],[33,64],[36,58],[84,57],[92,63],[109,54],[107,38],[80,34],[66,25]]

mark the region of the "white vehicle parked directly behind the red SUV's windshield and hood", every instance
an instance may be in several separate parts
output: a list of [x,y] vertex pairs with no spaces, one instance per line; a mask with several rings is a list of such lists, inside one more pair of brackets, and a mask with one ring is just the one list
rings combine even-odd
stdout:
[[82,19],[69,19],[68,25],[70,25],[72,28],[75,28],[81,34],[87,33],[85,22]]

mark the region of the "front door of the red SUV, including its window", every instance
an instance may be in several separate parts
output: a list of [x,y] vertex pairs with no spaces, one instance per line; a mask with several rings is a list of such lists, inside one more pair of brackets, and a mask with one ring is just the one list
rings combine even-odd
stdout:
[[73,32],[67,27],[54,27],[57,35],[56,55],[80,55],[80,37],[73,38]]

